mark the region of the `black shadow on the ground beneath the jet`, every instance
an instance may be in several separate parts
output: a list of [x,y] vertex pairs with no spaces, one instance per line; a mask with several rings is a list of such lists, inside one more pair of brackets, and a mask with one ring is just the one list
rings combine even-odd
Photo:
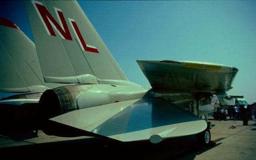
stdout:
[[[66,140],[60,142],[48,142],[42,144],[30,144],[26,146],[15,146],[1,148],[2,154],[31,152],[33,154],[46,156],[66,156],[87,158],[111,158],[111,159],[179,159],[184,156],[191,158],[201,154],[219,144],[215,142],[208,148],[202,150],[196,143],[196,136],[184,136],[166,139],[158,144],[149,141],[119,142],[116,140],[103,140],[102,138],[85,138],[79,140]],[[59,152],[61,151],[61,152]],[[44,154],[47,153],[47,154]],[[20,154],[22,155],[22,154]]]

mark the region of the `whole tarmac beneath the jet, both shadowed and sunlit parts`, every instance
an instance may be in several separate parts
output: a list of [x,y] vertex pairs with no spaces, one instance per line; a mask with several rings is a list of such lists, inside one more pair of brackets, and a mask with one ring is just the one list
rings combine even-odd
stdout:
[[[163,140],[158,144],[148,141],[116,142],[94,137],[64,138],[48,136],[41,130],[15,133],[0,132],[0,155],[27,157],[36,154],[40,157],[56,156],[72,158],[102,159],[178,159],[178,160],[255,160],[256,125],[254,120],[243,126],[240,120],[218,121],[209,117],[212,123],[211,141],[207,148],[196,143],[196,136],[184,136]],[[234,126],[232,128],[232,126]],[[60,150],[60,151],[59,151]],[[19,153],[19,154],[13,154]]]

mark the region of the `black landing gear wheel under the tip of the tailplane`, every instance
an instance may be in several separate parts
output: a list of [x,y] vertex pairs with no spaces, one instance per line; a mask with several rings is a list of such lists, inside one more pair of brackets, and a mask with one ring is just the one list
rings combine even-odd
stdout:
[[203,132],[200,132],[196,135],[197,142],[200,146],[202,146],[203,149],[205,149],[207,146],[211,143],[211,133],[210,129],[207,127],[206,130]]

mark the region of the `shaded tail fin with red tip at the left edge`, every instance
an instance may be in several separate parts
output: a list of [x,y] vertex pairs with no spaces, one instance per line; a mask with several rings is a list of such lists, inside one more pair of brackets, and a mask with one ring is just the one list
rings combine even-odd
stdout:
[[44,83],[34,43],[13,22],[0,18],[0,91],[44,92],[60,84]]

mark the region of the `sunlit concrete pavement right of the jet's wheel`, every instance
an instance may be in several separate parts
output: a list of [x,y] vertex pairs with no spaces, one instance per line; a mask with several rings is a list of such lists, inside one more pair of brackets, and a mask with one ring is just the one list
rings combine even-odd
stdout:
[[[256,159],[256,126],[250,120],[248,126],[243,126],[242,121],[217,121],[212,122],[211,140],[212,147],[206,150],[193,152],[179,158],[179,160],[255,160]],[[230,126],[236,126],[232,129]]]

